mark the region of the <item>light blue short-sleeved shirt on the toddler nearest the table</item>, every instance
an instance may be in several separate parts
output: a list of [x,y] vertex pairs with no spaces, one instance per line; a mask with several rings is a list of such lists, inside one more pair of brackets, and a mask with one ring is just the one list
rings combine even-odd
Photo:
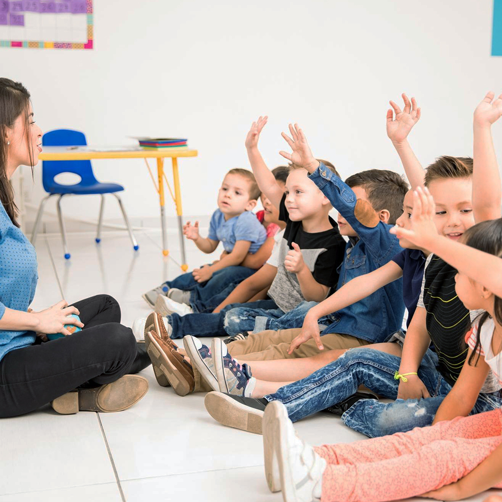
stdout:
[[237,240],[249,240],[249,253],[255,254],[267,238],[267,230],[258,221],[255,213],[244,211],[225,221],[225,215],[216,209],[209,223],[211,240],[219,240],[227,253],[231,253]]

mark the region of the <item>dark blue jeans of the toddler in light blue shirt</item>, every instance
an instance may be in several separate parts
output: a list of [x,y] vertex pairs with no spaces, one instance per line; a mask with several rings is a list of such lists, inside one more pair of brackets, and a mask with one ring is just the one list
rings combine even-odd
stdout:
[[194,312],[212,312],[244,279],[252,276],[255,269],[238,265],[216,271],[209,281],[198,283],[191,272],[164,283],[168,291],[178,288],[190,291],[190,306]]

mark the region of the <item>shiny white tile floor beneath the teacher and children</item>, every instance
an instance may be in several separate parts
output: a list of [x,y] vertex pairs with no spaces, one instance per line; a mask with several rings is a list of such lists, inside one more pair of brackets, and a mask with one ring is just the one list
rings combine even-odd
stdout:
[[[99,246],[90,233],[69,235],[69,262],[59,236],[40,235],[34,308],[62,296],[74,302],[108,293],[119,301],[124,324],[146,316],[150,309],[141,294],[179,274],[180,254],[174,230],[166,259],[159,233],[136,235],[138,253],[121,232],[104,234]],[[207,260],[191,242],[187,252],[191,267]],[[1,420],[0,502],[282,500],[264,479],[261,436],[220,426],[206,413],[202,394],[181,398],[159,387],[151,368],[143,373],[149,393],[122,413],[59,416],[45,407]],[[363,438],[323,414],[296,427],[311,444]]]

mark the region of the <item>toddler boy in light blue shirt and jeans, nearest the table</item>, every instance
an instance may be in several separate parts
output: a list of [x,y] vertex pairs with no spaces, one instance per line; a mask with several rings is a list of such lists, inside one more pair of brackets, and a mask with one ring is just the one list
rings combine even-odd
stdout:
[[[207,288],[207,295],[210,286],[206,282],[212,278],[213,274],[227,267],[240,265],[248,253],[257,253],[267,238],[264,226],[252,212],[257,205],[260,193],[252,172],[246,169],[231,169],[225,175],[218,191],[218,209],[211,217],[209,235],[206,238],[199,235],[198,221],[194,225],[188,221],[183,227],[186,238],[193,240],[203,253],[211,254],[220,241],[223,243],[225,253],[217,262],[204,265],[192,273],[183,274],[174,281],[168,281],[145,293],[143,295],[145,301],[154,306],[158,296],[167,293],[171,287],[176,287],[177,291],[181,290],[180,293],[184,293],[203,286]],[[255,272],[247,267],[241,269],[238,272],[232,270],[235,280],[241,281]],[[173,299],[180,300],[180,298]]]

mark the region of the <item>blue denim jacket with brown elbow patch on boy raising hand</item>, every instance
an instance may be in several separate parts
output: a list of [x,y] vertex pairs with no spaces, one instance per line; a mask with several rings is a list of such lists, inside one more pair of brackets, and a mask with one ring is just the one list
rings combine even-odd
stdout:
[[[353,190],[322,162],[309,178],[359,236],[350,237],[347,242],[345,260],[338,268],[340,277],[337,289],[354,277],[382,267],[403,250],[398,238],[389,233],[392,225],[380,221],[370,228],[357,219],[354,214],[357,199]],[[363,300],[334,312],[336,321],[322,334],[343,333],[374,343],[384,342],[401,329],[404,311],[403,280],[399,279]]]

